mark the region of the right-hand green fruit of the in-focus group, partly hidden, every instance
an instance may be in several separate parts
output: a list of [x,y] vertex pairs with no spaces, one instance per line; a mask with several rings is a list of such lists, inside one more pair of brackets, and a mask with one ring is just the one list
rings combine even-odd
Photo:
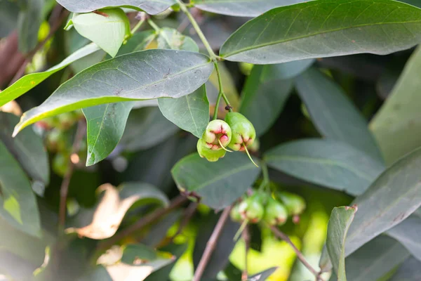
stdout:
[[225,122],[231,127],[232,139],[228,147],[235,151],[246,150],[245,146],[252,145],[256,138],[253,124],[239,112],[228,112]]

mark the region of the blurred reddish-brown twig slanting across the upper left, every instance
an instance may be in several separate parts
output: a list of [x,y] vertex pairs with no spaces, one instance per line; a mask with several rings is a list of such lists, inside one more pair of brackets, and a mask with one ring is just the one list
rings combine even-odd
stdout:
[[[62,10],[62,6],[60,6],[60,4],[57,4],[57,6],[55,8],[60,9],[60,11]],[[53,17],[53,15],[56,15],[56,13],[57,13],[56,11],[53,11],[52,17]],[[26,59],[23,61],[22,65],[20,65],[20,68],[19,68],[18,72],[16,72],[15,76],[13,77],[11,82],[9,83],[9,86],[11,86],[13,83],[15,83],[15,81],[18,81],[18,79],[20,79],[20,77],[22,77],[23,74],[25,74],[25,70],[26,70],[26,67],[27,67],[28,63],[30,63],[32,61],[32,58],[34,58],[34,55],[36,54],[36,52],[41,50],[41,48],[44,47],[44,45],[47,43],[47,41],[50,40],[51,37],[53,37],[53,34],[55,34],[55,32],[58,30],[58,28],[62,25],[64,20],[67,18],[67,15],[69,15],[69,12],[65,10],[61,13],[61,15],[59,17],[55,17],[55,20],[53,22],[51,22],[52,27],[51,27],[51,30],[48,33],[46,39],[39,42],[39,44],[37,44],[36,47],[27,54]]]

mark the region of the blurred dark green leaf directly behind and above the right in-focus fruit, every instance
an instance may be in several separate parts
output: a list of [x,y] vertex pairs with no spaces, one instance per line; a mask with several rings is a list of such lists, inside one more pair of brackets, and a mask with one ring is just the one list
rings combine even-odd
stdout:
[[255,65],[243,89],[239,112],[253,123],[258,136],[274,124],[293,89],[293,81],[279,79],[272,73],[276,70],[276,65]]

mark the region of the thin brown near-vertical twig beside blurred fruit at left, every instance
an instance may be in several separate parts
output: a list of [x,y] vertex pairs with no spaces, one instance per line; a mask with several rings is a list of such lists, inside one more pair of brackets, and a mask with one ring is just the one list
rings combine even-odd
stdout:
[[66,204],[67,204],[67,194],[69,193],[69,183],[72,179],[73,171],[74,171],[74,164],[72,162],[72,155],[79,152],[79,148],[86,132],[86,123],[85,120],[79,120],[76,129],[76,135],[74,136],[74,141],[72,145],[72,154],[69,158],[69,167],[67,168],[66,174],[63,178],[62,184],[60,186],[60,209],[59,209],[59,226],[60,229],[65,227],[66,223]]

